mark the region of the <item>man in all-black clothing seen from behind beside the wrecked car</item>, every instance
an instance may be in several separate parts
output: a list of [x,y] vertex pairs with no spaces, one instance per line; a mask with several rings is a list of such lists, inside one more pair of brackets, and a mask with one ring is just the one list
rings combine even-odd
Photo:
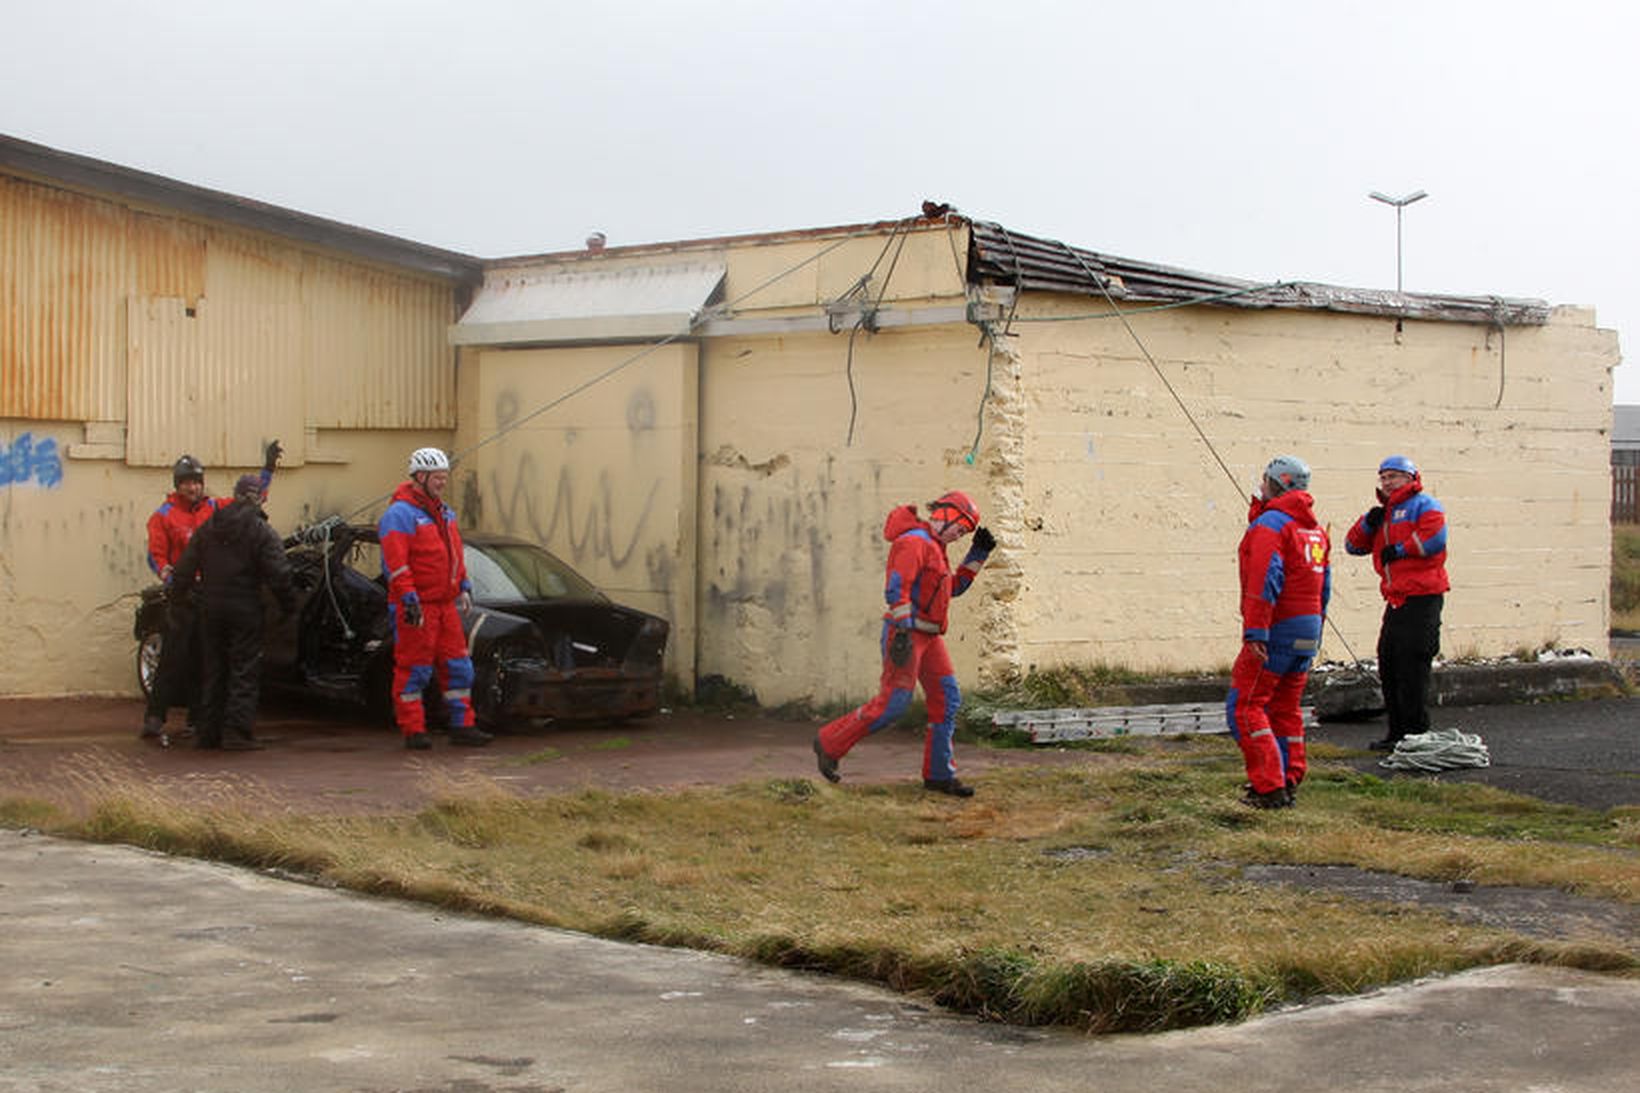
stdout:
[[172,581],[189,588],[195,576],[205,612],[205,722],[194,747],[253,752],[262,747],[251,734],[262,676],[262,586],[285,614],[295,611],[290,563],[267,525],[256,474],[241,476],[233,504],[189,538]]

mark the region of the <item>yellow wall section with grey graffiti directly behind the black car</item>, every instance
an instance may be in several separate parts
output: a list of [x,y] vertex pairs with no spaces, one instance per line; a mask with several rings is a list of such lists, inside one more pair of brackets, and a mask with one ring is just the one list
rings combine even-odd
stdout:
[[667,619],[667,670],[692,679],[695,346],[469,350],[458,400],[462,519]]

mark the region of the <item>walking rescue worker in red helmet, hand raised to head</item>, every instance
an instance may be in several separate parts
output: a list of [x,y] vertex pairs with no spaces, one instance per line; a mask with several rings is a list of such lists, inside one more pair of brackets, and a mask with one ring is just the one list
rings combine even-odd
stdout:
[[[974,535],[974,545],[953,576],[945,550],[968,533]],[[894,509],[882,538],[892,543],[882,589],[889,606],[882,612],[882,681],[874,699],[815,734],[815,760],[827,781],[841,781],[838,760],[868,734],[899,720],[922,684],[928,706],[923,788],[971,798],[973,786],[958,780],[951,760],[951,734],[963,696],[941,635],[951,597],[968,591],[997,540],[979,527],[979,509],[961,491],[928,502],[927,520],[918,519],[917,505]]]

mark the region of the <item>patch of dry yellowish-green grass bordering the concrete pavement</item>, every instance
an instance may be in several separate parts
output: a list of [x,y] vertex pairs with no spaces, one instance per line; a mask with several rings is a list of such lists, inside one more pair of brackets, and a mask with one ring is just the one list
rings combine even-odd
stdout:
[[231,781],[187,804],[103,768],[75,775],[77,809],[7,803],[0,817],[1097,1032],[1506,960],[1640,972],[1633,937],[1543,942],[1245,881],[1246,863],[1328,863],[1640,899],[1640,809],[1384,781],[1323,752],[1281,812],[1237,804],[1235,745],[1192,737],[989,771],[966,803],[805,778],[523,799],[441,776],[415,814],[325,817]]

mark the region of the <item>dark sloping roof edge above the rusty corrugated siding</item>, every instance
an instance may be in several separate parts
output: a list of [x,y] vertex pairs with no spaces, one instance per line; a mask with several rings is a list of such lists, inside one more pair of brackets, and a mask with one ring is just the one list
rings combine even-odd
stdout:
[[471,254],[412,243],[394,235],[312,217],[249,197],[236,197],[161,174],[133,171],[102,159],[75,156],[44,144],[0,135],[0,167],[23,176],[62,182],[92,194],[112,194],[180,213],[220,220],[300,243],[326,246],[359,258],[431,274],[461,284],[477,284],[484,263]]

